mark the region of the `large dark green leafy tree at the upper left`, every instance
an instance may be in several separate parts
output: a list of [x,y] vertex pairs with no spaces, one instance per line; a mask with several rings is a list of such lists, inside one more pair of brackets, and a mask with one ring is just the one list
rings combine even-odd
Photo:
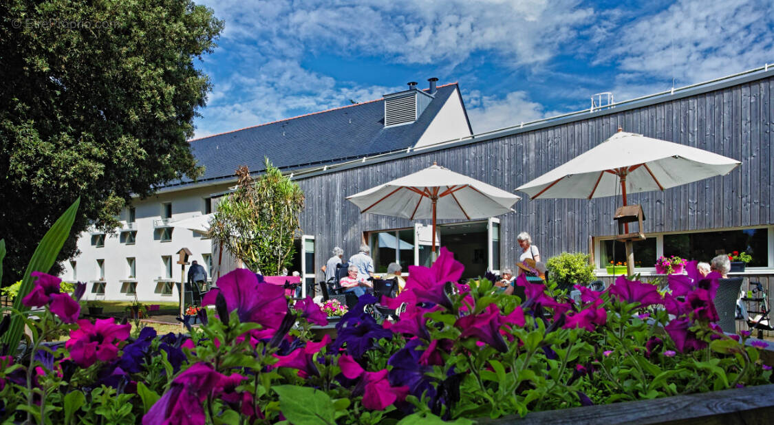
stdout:
[[211,83],[194,62],[223,23],[190,0],[3,0],[0,19],[7,284],[78,196],[59,260],[89,224],[115,228],[132,196],[200,175],[187,139]]

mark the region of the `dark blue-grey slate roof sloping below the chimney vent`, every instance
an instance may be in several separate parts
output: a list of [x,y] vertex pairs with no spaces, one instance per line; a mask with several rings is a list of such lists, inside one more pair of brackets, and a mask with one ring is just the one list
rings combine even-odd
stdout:
[[[259,173],[264,156],[281,170],[294,170],[406,149],[416,144],[455,88],[457,83],[438,86],[420,119],[387,129],[382,98],[191,140],[194,157],[205,167],[199,181],[232,177],[241,165]],[[166,186],[187,183],[191,180]]]

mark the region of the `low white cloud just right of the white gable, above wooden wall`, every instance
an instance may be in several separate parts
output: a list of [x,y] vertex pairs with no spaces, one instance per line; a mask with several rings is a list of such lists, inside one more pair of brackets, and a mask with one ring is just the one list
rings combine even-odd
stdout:
[[524,91],[513,91],[505,97],[485,96],[481,91],[464,93],[467,116],[475,134],[503,129],[522,122],[545,118],[543,105],[529,100]]

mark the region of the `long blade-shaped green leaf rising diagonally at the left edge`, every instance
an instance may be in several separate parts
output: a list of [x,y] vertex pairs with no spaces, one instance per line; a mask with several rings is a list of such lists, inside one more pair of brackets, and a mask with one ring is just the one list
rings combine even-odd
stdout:
[[[31,276],[31,273],[48,272],[53,263],[57,261],[57,255],[59,255],[62,245],[64,245],[64,242],[70,235],[70,228],[73,227],[79,204],[80,197],[67,208],[67,211],[64,211],[64,214],[57,219],[49,231],[46,232],[46,235],[43,236],[43,240],[40,241],[38,248],[36,248],[33,254],[33,258],[29,260],[26,272],[24,272],[22,286],[19,287],[19,295],[14,300],[13,307],[16,310],[22,311],[22,313],[29,310],[29,307],[22,304],[22,298],[33,289],[33,276]],[[21,339],[22,318],[15,316],[11,320],[8,331],[3,335],[3,342],[9,347],[18,347]]]

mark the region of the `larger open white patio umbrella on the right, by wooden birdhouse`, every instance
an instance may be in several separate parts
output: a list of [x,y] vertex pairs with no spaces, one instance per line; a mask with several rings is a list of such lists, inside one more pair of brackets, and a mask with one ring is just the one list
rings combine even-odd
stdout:
[[[706,150],[618,132],[567,163],[516,188],[530,199],[587,198],[664,190],[681,184],[724,176],[740,164],[736,159]],[[627,224],[628,232],[628,224]],[[626,242],[627,257],[631,242]],[[634,272],[633,257],[628,272]]]

